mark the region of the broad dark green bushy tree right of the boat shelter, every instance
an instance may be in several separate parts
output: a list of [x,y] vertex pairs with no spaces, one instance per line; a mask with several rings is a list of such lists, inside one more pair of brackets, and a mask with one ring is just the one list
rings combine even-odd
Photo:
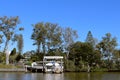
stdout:
[[93,64],[100,63],[100,52],[94,50],[89,43],[76,42],[70,45],[69,52],[69,60],[74,61],[78,71],[82,65],[92,67]]

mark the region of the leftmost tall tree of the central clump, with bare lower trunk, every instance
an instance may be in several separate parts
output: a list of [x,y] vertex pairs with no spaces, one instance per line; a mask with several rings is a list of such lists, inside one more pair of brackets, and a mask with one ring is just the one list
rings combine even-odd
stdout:
[[47,30],[45,29],[43,22],[33,25],[33,33],[31,39],[34,40],[33,45],[37,45],[37,53],[41,52],[41,44],[45,43],[46,31]]

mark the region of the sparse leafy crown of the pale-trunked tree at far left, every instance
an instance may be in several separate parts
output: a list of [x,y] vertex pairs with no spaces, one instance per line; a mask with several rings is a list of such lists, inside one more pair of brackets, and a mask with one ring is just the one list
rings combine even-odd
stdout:
[[[19,24],[19,17],[0,17],[0,31],[4,35],[5,47],[4,52],[8,49],[8,45],[12,38],[15,35],[15,30],[17,29],[17,25]],[[22,30],[19,28],[18,30]]]

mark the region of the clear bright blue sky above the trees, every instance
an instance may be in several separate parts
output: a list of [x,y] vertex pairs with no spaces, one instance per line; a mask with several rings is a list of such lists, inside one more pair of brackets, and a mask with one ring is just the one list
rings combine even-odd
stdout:
[[23,52],[36,49],[31,24],[41,21],[77,30],[79,41],[91,31],[98,41],[111,33],[120,42],[120,0],[0,0],[0,16],[19,16],[25,29]]

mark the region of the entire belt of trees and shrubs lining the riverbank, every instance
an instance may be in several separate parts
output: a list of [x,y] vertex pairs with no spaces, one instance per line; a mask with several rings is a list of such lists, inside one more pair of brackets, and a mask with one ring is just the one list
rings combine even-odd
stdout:
[[[61,27],[50,22],[33,24],[31,40],[36,50],[22,54],[24,38],[18,27],[19,17],[0,17],[0,45],[4,45],[0,52],[0,67],[5,64],[9,45],[16,45],[9,56],[10,65],[17,65],[20,59],[27,59],[24,64],[40,61],[43,56],[64,56],[66,71],[108,71],[120,70],[120,49],[117,49],[117,39],[111,33],[106,33],[101,41],[93,37],[88,31],[84,42],[76,41],[78,34],[70,27]],[[17,42],[16,44],[13,44]],[[11,45],[11,46],[12,46]]]

